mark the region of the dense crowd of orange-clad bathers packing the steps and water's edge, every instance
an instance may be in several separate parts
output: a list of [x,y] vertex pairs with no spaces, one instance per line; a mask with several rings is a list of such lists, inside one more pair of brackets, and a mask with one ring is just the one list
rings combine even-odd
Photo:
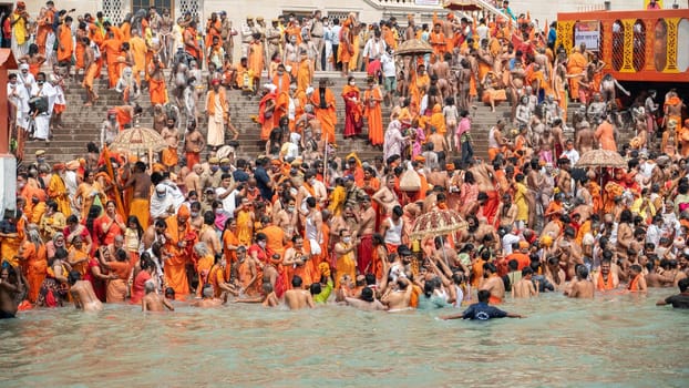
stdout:
[[[555,47],[556,24],[541,31],[502,7],[516,28],[452,12],[420,27],[410,16],[402,28],[394,18],[366,24],[316,11],[271,27],[247,17],[235,31],[225,12],[205,29],[155,8],[117,25],[83,14],[73,27],[73,10],[48,1],[32,19],[18,2],[9,19],[21,64],[8,94],[19,132],[49,139],[64,109],[60,84],[79,82],[80,72],[85,104],[99,99],[93,81],[103,75],[122,104],[84,157],[50,165],[39,151],[18,172],[17,211],[0,223],[2,317],[70,300],[145,310],[173,309],[167,299],[289,308],[336,300],[394,312],[477,297],[445,318],[486,319],[518,317],[487,305],[510,293],[590,298],[649,287],[679,287],[659,304],[688,307],[682,100],[675,90],[662,102],[638,94],[625,120],[617,90],[630,93],[595,52],[582,44],[567,54]],[[411,39],[433,52],[394,55]],[[45,61],[50,78],[40,71]],[[381,155],[362,161],[336,144],[335,91],[326,79],[313,85],[323,69],[349,76],[344,137],[366,129]],[[369,74],[363,93],[349,75],[358,70]],[[146,89],[168,145],[150,163],[104,147],[143,114]],[[226,141],[226,129],[238,135],[229,89],[261,91],[255,120],[266,152],[256,159],[238,157]],[[474,157],[470,111],[506,101],[512,118],[490,129],[489,157]],[[567,101],[582,106],[575,118]],[[385,130],[383,105],[392,112]],[[618,147],[626,121],[636,136]],[[595,149],[619,152],[628,167],[577,169]],[[422,215],[443,212],[466,227],[412,234]]]

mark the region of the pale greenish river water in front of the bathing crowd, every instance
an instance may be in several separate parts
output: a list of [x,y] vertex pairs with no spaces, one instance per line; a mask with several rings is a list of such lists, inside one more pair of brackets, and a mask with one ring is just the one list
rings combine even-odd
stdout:
[[[649,296],[501,306],[525,319],[178,305],[0,320],[0,387],[687,387],[689,310]],[[440,313],[439,313],[440,312]]]

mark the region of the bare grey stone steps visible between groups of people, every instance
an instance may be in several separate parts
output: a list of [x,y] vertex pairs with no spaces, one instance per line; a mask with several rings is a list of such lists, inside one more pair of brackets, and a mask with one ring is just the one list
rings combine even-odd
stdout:
[[[357,80],[357,84],[360,88],[364,88],[366,74],[353,73],[353,75]],[[328,78],[330,80],[330,88],[337,100],[337,155],[343,157],[350,152],[357,152],[362,161],[371,161],[377,155],[381,155],[382,152],[380,147],[371,146],[366,139],[344,140],[342,137],[344,127],[344,103],[340,94],[347,80],[336,72],[318,72],[315,82],[321,78]],[[72,81],[72,83],[65,88],[68,106],[62,118],[63,129],[53,131],[53,139],[50,143],[27,142],[24,151],[25,162],[31,163],[34,161],[34,152],[37,150],[47,151],[47,161],[49,163],[66,162],[85,155],[86,144],[89,142],[100,144],[101,124],[106,118],[107,110],[122,104],[122,102],[120,95],[114,90],[107,90],[106,80],[96,81],[96,88],[100,100],[93,106],[89,108],[83,105],[84,91],[78,82]],[[239,157],[255,159],[257,155],[264,154],[265,146],[259,140],[260,129],[258,124],[251,120],[251,115],[258,114],[259,98],[248,98],[243,95],[240,91],[228,91],[228,101],[230,104],[232,121],[239,131],[237,155]],[[153,118],[151,115],[151,102],[146,91],[142,93],[138,103],[144,110],[144,114],[140,119],[140,125],[151,127]],[[573,116],[573,111],[576,109],[574,104],[570,105],[568,118]],[[388,126],[390,111],[390,108],[383,106],[383,129]],[[476,157],[486,159],[487,133],[498,119],[505,119],[505,121],[510,120],[510,105],[503,103],[496,106],[496,112],[493,113],[490,106],[477,103],[473,115],[472,136],[474,139],[474,153]],[[205,133],[206,126],[202,125],[200,130]],[[367,127],[364,126],[364,132],[366,131]],[[568,134],[568,136],[572,136],[572,134]],[[229,140],[229,131],[226,131],[226,141]],[[459,157],[459,155],[455,153],[451,157]]]

